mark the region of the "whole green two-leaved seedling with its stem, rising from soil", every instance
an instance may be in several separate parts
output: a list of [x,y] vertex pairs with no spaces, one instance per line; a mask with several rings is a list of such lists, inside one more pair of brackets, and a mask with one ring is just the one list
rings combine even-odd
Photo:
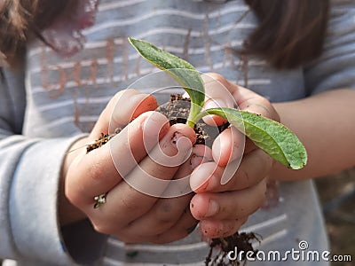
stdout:
[[[148,62],[169,73],[188,93],[191,109],[187,124],[194,127],[197,121],[209,114],[221,116],[239,129],[256,146],[288,168],[303,168],[307,162],[307,153],[298,137],[277,121],[256,113],[233,108],[211,108],[202,110],[205,100],[204,84],[199,72],[188,62],[163,51],[153,43],[129,38],[132,46]],[[186,71],[177,71],[182,69]]]

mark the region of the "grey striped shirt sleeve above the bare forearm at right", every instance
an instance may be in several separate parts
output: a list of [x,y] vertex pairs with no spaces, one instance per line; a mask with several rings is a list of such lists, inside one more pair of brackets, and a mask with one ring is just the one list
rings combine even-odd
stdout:
[[329,16],[324,51],[304,68],[309,95],[355,88],[355,2],[331,1]]

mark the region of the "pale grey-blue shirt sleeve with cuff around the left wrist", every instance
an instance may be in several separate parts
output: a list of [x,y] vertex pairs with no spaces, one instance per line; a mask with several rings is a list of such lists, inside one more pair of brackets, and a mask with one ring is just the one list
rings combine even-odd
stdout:
[[[62,161],[70,145],[83,136],[20,135],[26,102],[22,77],[1,68],[0,73],[0,258],[36,265],[89,265],[99,260],[106,236],[87,221],[63,231],[58,217]],[[64,241],[66,231],[70,236]]]

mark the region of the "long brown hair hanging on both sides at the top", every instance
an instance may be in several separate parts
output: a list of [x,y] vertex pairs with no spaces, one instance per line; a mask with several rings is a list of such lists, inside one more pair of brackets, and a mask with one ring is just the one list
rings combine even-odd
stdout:
[[[0,4],[0,63],[11,65],[28,39],[49,26],[74,0],[3,0]],[[319,56],[327,28],[329,0],[245,0],[260,24],[243,54],[260,56],[277,68],[300,66]]]

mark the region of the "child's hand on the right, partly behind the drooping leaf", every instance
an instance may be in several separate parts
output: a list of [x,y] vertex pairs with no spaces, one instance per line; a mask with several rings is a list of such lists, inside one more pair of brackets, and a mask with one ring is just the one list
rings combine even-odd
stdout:
[[[235,100],[241,110],[280,120],[271,103],[253,91],[228,82],[219,74],[202,78],[206,95],[211,98],[206,108],[233,107]],[[205,121],[211,120],[217,124],[224,122],[214,116]],[[225,129],[212,146],[215,162],[201,164],[191,176],[191,186],[197,192],[191,200],[191,212],[201,221],[201,233],[207,238],[232,235],[264,203],[273,160],[250,140],[246,140],[245,150],[242,144],[243,135],[237,129]],[[221,184],[223,175],[230,175],[227,184]]]

